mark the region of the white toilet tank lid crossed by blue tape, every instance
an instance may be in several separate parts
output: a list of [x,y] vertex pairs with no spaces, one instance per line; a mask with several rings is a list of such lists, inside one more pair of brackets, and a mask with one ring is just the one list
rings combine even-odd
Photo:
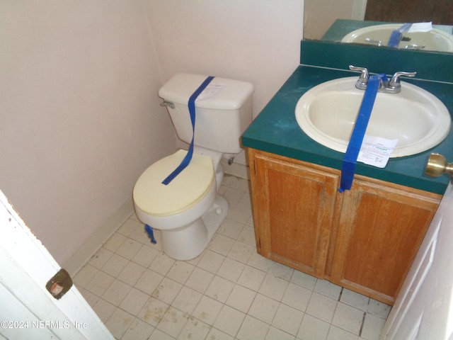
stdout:
[[[159,97],[165,101],[186,105],[190,96],[202,84],[207,76],[202,74],[175,74],[159,90]],[[195,107],[214,108],[219,110],[236,110],[241,108],[243,103],[253,94],[253,85],[246,81],[214,77],[208,86],[207,91],[216,88],[218,91],[208,98],[201,98],[201,94]],[[215,91],[215,90],[214,90]]]

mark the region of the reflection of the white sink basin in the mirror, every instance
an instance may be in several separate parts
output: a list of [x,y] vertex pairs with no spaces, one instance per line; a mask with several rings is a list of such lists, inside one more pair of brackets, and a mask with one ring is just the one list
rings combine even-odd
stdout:
[[[341,41],[369,45],[378,45],[378,42],[382,42],[382,45],[385,46],[389,42],[391,33],[400,27],[401,24],[389,23],[359,28],[345,35]],[[433,28],[430,32],[403,32],[403,37],[411,40],[401,40],[398,48],[453,52],[453,35],[437,28]]]

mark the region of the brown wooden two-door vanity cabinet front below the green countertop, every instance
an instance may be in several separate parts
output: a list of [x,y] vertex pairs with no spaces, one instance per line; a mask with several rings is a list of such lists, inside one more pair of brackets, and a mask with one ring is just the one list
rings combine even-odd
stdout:
[[258,253],[389,305],[440,195],[248,150]]

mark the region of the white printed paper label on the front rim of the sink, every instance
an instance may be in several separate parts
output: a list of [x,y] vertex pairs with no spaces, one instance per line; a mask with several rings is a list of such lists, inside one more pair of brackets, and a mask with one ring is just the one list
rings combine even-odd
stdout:
[[389,162],[390,154],[397,142],[398,140],[387,140],[382,137],[365,135],[357,161],[384,168]]

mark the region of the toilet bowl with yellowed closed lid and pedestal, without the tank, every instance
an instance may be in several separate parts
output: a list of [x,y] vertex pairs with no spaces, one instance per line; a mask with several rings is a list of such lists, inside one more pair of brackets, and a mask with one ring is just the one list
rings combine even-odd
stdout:
[[[196,152],[205,153],[200,148]],[[214,162],[221,166],[219,159],[196,152],[188,167],[167,186],[161,182],[187,151],[180,149],[149,166],[133,191],[137,217],[161,230],[162,249],[178,260],[201,254],[228,213],[228,203],[217,196]]]

